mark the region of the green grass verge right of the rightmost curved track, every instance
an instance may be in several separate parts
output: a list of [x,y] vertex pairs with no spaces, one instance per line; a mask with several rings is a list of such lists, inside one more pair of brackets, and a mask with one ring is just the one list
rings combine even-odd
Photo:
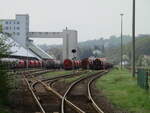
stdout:
[[128,70],[112,70],[96,82],[110,102],[119,109],[131,113],[150,113],[150,93],[137,86]]

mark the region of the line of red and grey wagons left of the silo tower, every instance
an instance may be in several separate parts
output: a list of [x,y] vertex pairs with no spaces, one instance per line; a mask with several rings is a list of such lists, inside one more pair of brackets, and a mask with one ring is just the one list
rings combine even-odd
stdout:
[[17,58],[2,58],[0,63],[5,64],[9,69],[18,68],[47,68],[47,69],[60,69],[62,63],[58,60],[25,60]]

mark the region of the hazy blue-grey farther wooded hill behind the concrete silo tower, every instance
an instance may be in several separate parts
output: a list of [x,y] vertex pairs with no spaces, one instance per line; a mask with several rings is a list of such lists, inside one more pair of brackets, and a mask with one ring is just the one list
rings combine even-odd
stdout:
[[[131,41],[129,35],[123,37],[124,43],[127,44]],[[104,57],[105,51],[108,48],[116,48],[120,45],[120,37],[111,36],[109,39],[99,38],[94,40],[88,40],[85,42],[79,42],[79,59],[83,59],[90,56]],[[62,45],[39,45],[43,50],[49,54],[54,54],[57,59],[62,58]],[[57,51],[57,52],[55,52]]]

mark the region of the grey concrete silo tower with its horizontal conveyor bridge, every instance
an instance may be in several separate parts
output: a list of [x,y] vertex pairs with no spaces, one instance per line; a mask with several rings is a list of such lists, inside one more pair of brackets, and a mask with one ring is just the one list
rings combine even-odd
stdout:
[[63,30],[63,32],[29,32],[29,37],[32,38],[63,38],[63,60],[77,57],[77,53],[72,53],[72,49],[78,48],[78,34],[75,30]]

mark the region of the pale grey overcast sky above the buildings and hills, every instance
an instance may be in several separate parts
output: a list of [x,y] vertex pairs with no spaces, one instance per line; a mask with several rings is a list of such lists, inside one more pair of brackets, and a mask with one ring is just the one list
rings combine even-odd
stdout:
[[[29,14],[30,31],[59,32],[68,26],[86,41],[132,31],[132,0],[1,0],[0,18]],[[136,0],[136,34],[150,34],[150,0]],[[62,39],[36,39],[35,43],[59,44]]]

